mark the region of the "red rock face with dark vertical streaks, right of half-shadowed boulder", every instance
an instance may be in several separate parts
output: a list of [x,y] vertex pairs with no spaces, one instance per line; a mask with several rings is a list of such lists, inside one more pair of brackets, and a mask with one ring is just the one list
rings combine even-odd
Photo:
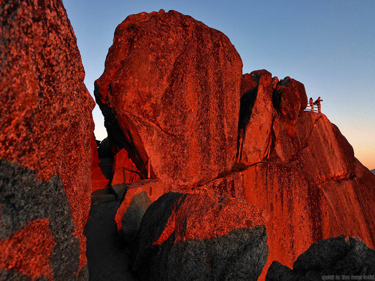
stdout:
[[241,174],[246,200],[270,214],[263,280],[272,261],[292,265],[313,242],[329,237],[327,200],[318,185],[288,165],[270,162]]

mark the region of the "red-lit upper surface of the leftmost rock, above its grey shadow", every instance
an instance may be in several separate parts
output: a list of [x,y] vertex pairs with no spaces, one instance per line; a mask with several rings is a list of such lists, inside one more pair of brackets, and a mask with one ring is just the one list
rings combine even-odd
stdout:
[[[0,95],[6,100],[0,110],[0,158],[8,167],[13,162],[35,171],[35,181],[55,184],[56,190],[60,185],[56,183],[55,175],[61,176],[70,220],[75,225],[74,234],[66,233],[66,236],[72,243],[79,239],[81,244],[74,242],[67,255],[82,269],[86,264],[83,227],[90,207],[90,138],[94,126],[91,111],[94,102],[83,84],[83,65],[74,32],[60,0],[7,0],[0,5],[0,15]],[[21,176],[4,176],[23,181]],[[7,196],[10,187],[6,181],[1,184],[5,184],[1,186],[1,192]],[[34,184],[36,182],[29,186],[35,189],[34,203],[41,204],[46,199],[39,197],[41,192]],[[16,205],[23,208],[21,201]],[[50,209],[36,214],[48,217]],[[8,211],[10,209],[2,209],[2,212]],[[11,221],[18,221],[21,213],[8,215]],[[56,217],[49,219],[57,220]],[[39,259],[38,255],[43,251],[35,247],[35,258]],[[76,253],[74,247],[81,252],[79,260],[73,255]],[[67,261],[61,259],[60,263],[64,262]],[[58,267],[57,263],[52,266],[54,276],[63,278],[63,273],[55,272],[60,270]],[[64,268],[62,264],[60,267]],[[69,267],[65,280],[73,271],[77,276],[78,266]]]

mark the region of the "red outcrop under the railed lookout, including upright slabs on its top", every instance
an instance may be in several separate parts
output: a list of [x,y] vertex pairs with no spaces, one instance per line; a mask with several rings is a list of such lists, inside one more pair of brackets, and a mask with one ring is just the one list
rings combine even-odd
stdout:
[[243,198],[269,213],[260,280],[273,260],[292,266],[321,239],[355,235],[374,247],[375,177],[325,115],[303,111],[303,85],[259,70],[243,75],[241,94],[237,160],[248,167],[193,192]]

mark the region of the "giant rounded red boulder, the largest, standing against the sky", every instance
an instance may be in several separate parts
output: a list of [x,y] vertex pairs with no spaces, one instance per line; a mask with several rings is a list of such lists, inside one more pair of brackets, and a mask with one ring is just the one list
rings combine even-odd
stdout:
[[170,185],[214,179],[234,163],[241,72],[229,39],[200,21],[127,17],[95,82],[110,141]]

